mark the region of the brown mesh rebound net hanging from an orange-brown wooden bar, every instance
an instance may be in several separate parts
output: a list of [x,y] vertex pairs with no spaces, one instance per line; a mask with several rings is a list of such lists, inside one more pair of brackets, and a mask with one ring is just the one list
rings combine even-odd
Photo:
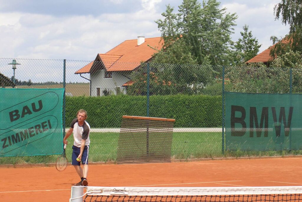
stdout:
[[175,119],[123,116],[117,163],[171,162]]

